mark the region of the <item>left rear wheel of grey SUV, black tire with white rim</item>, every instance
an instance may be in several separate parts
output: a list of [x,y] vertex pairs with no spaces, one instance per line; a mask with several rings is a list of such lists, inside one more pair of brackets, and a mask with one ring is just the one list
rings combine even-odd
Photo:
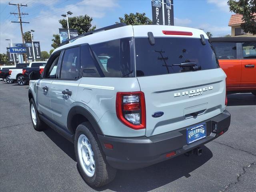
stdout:
[[76,128],[74,146],[78,171],[89,186],[98,188],[115,178],[116,169],[106,161],[98,137],[89,122]]

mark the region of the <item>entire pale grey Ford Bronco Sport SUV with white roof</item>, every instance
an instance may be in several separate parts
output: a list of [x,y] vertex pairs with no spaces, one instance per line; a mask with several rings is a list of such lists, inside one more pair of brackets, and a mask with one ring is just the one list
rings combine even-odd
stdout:
[[226,74],[202,30],[116,24],[68,41],[30,74],[30,114],[35,130],[46,123],[74,143],[90,186],[200,155],[228,130]]

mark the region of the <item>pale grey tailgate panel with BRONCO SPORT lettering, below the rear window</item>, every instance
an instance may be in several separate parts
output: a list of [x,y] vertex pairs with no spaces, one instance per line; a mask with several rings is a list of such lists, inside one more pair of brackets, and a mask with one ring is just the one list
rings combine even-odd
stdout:
[[[220,68],[138,77],[146,100],[146,136],[183,128],[222,113],[225,110],[225,78]],[[164,115],[152,117],[159,111]],[[192,116],[194,112],[198,115]]]

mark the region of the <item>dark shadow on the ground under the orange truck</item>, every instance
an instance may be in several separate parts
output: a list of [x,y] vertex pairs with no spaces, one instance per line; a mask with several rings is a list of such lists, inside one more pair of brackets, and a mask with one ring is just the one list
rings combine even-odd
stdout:
[[256,105],[256,96],[251,93],[228,95],[228,106]]

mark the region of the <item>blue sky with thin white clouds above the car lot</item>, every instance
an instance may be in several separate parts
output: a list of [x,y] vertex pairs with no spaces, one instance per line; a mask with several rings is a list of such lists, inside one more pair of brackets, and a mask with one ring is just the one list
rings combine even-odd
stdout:
[[[6,52],[8,42],[22,42],[20,26],[17,16],[10,12],[17,12],[13,4],[27,4],[21,7],[21,12],[28,13],[22,20],[30,22],[23,24],[23,31],[35,30],[34,40],[40,41],[41,50],[52,49],[52,34],[61,28],[58,20],[61,14],[73,12],[72,16],[88,14],[93,18],[92,24],[97,28],[108,26],[119,21],[125,13],[145,12],[152,19],[150,0],[1,0],[0,1],[0,52]],[[212,32],[213,36],[230,34],[228,26],[231,13],[227,0],[174,0],[174,25],[202,28],[205,32]]]

